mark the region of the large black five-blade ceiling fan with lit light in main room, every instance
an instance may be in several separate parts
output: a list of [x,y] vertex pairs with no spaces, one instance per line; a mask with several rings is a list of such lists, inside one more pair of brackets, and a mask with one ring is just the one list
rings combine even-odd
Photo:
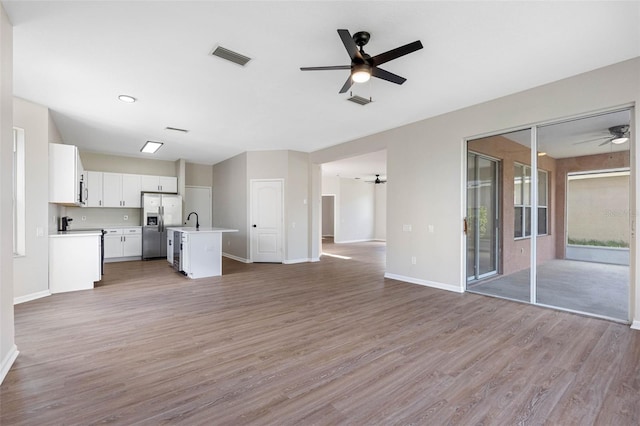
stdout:
[[301,71],[326,71],[326,70],[351,70],[349,78],[344,83],[339,93],[345,93],[353,85],[353,83],[364,83],[369,78],[377,77],[392,83],[402,84],[407,81],[406,78],[378,68],[385,62],[397,59],[401,56],[422,49],[420,40],[413,43],[405,44],[376,56],[370,56],[364,52],[363,47],[369,42],[371,35],[366,31],[359,31],[351,36],[348,30],[338,30],[338,35],[342,40],[342,44],[347,49],[347,53],[351,58],[351,65],[336,65],[327,67],[302,67]]

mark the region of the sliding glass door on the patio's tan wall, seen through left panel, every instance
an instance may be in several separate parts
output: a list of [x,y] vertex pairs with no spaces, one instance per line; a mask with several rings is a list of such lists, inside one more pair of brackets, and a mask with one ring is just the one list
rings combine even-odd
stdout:
[[475,281],[498,272],[498,162],[467,156],[467,281]]

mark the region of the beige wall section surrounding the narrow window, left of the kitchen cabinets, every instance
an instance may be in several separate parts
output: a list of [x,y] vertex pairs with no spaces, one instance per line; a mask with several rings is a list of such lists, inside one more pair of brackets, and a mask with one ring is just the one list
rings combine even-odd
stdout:
[[13,297],[22,302],[49,294],[49,125],[53,121],[47,107],[15,98],[13,123],[24,129],[26,154],[25,255],[13,261]]

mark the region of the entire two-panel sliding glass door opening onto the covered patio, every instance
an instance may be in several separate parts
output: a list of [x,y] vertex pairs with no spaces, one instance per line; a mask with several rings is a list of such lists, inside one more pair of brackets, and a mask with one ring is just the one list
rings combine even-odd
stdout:
[[[622,109],[467,141],[467,291],[629,321],[631,116]],[[493,186],[490,160],[500,169],[497,204],[480,189]],[[495,269],[483,229],[494,205]]]

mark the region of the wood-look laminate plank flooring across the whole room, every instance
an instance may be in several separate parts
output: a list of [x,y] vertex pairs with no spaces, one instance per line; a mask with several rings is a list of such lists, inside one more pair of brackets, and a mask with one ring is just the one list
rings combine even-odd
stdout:
[[2,425],[638,425],[640,332],[383,278],[384,245],[15,307]]

